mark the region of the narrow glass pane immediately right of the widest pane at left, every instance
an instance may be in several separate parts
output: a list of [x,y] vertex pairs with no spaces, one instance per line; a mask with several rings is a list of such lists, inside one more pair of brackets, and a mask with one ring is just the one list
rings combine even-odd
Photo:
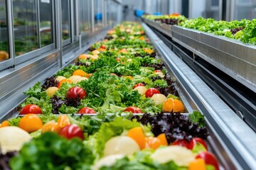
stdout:
[[39,3],[41,47],[53,43],[51,4],[51,0],[40,0]]

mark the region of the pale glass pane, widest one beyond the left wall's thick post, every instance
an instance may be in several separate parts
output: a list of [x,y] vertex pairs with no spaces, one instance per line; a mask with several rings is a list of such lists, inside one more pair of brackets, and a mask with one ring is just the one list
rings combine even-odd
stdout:
[[78,0],[80,33],[87,32],[91,28],[90,0]]

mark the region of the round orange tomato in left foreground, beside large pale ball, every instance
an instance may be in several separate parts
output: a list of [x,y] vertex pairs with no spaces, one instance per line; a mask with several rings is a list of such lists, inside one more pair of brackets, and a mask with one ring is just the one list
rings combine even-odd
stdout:
[[21,121],[18,123],[18,128],[25,130],[26,132],[35,132],[43,127],[43,122],[41,118],[38,118],[37,115],[29,113],[21,118]]

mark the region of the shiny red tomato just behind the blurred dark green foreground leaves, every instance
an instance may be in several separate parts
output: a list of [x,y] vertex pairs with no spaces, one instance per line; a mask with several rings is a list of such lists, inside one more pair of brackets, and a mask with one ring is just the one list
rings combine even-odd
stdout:
[[77,125],[66,125],[60,130],[59,135],[67,139],[72,139],[73,137],[79,137],[82,140],[85,139],[82,129]]

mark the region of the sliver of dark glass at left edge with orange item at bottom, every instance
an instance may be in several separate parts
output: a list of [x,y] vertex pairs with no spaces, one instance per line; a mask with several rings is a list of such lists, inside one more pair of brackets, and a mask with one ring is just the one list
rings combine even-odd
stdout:
[[6,3],[0,0],[0,62],[9,59]]

